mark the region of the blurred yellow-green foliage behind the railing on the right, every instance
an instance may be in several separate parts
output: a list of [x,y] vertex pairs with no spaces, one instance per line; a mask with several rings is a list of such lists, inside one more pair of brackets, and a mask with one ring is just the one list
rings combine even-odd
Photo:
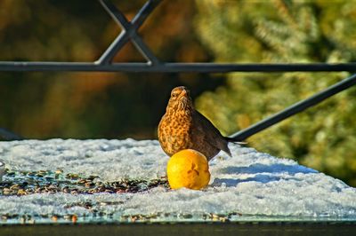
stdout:
[[[356,1],[197,0],[196,26],[217,62],[347,62],[356,59]],[[224,134],[262,120],[348,73],[228,75],[196,100]],[[248,138],[356,185],[356,88]]]

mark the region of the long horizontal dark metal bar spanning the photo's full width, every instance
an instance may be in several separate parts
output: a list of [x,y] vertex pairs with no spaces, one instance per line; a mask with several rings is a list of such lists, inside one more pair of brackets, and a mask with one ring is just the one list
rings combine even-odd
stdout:
[[98,71],[158,73],[227,73],[227,72],[356,72],[356,63],[311,64],[216,64],[216,63],[113,63],[0,61],[0,71]]

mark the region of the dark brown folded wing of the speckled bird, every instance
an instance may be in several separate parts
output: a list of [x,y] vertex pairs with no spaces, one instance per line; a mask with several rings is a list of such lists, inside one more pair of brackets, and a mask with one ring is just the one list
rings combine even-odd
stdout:
[[227,140],[223,137],[220,131],[214,127],[212,122],[207,120],[207,118],[203,114],[200,114],[198,111],[195,111],[193,117],[193,132],[195,132],[195,136],[204,138],[204,140],[210,145],[231,154],[229,147],[227,146]]

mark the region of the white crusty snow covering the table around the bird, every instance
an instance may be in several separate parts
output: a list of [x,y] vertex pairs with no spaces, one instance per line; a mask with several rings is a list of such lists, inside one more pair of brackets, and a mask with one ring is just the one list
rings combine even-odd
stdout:
[[[295,161],[231,145],[232,157],[220,153],[210,161],[211,181],[203,191],[158,186],[142,193],[0,194],[0,215],[75,214],[80,221],[130,222],[130,216],[160,221],[349,221],[356,220],[356,189]],[[154,179],[166,175],[168,157],[158,141],[25,140],[0,142],[7,169],[56,170],[101,181]],[[98,218],[93,208],[109,214]],[[72,207],[69,207],[72,206]],[[36,222],[45,222],[40,217]],[[14,221],[16,223],[16,220]]]

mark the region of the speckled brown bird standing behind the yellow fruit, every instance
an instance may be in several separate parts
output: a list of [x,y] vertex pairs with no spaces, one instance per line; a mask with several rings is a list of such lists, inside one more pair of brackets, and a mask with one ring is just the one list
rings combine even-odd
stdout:
[[228,143],[240,142],[235,138],[224,137],[214,124],[193,106],[190,90],[184,86],[171,92],[166,113],[158,123],[158,141],[163,151],[172,156],[184,149],[193,149],[210,161],[223,150],[231,156]]

